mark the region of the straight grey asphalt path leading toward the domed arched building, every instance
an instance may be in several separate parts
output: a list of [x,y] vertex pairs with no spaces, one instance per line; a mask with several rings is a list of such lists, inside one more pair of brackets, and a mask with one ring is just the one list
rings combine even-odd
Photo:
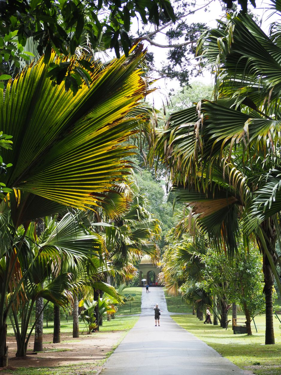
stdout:
[[[169,316],[162,288],[149,288],[149,292],[143,288],[139,320],[109,357],[101,375],[251,374],[178,326]],[[163,311],[160,327],[154,326],[155,303]]]

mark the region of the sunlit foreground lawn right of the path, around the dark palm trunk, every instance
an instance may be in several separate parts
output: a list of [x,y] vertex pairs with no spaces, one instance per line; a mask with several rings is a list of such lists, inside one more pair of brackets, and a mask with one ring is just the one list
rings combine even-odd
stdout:
[[264,345],[265,315],[255,318],[258,333],[252,324],[253,336],[233,335],[231,327],[226,331],[220,326],[204,325],[194,315],[173,315],[172,318],[241,369],[257,375],[281,374],[281,330],[277,319],[274,319],[276,344]]

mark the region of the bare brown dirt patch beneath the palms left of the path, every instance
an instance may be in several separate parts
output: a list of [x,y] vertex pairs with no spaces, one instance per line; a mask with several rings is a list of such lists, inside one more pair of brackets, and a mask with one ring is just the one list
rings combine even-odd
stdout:
[[[99,332],[91,335],[80,335],[73,339],[72,335],[62,334],[60,344],[49,344],[52,335],[44,335],[44,351],[37,354],[28,354],[26,358],[16,358],[15,338],[7,338],[9,346],[9,367],[2,369],[1,375],[19,367],[56,367],[78,365],[83,363],[83,370],[98,370],[106,358],[106,353],[115,347],[124,336],[122,331]],[[79,340],[79,341],[78,341]],[[33,352],[33,338],[28,343],[28,353]],[[85,365],[86,368],[85,368]],[[3,371],[4,370],[4,371]]]

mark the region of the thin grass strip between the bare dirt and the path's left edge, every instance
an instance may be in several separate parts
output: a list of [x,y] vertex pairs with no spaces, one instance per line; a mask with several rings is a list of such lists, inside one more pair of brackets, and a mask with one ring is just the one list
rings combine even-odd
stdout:
[[[105,321],[103,326],[100,327],[100,331],[94,333],[93,335],[100,335],[105,332],[115,331],[117,328],[120,331],[123,329],[123,332],[118,339],[118,342],[115,343],[111,350],[105,353],[105,358],[102,360],[97,360],[96,363],[89,363],[89,362],[81,362],[76,364],[69,364],[69,365],[61,365],[61,366],[39,366],[39,367],[18,367],[13,369],[0,369],[0,375],[96,375],[99,374],[102,370],[102,366],[108,360],[112,353],[114,353],[115,349],[120,345],[123,341],[124,337],[127,333],[132,329],[139,317],[116,317],[114,320],[110,322]],[[122,321],[123,324],[118,324],[118,322]],[[113,323],[113,324],[112,324]],[[75,340],[75,342],[79,342],[80,340]],[[56,351],[56,350],[55,350]],[[67,350],[71,351],[71,349]],[[50,359],[51,361],[51,359]],[[93,369],[91,369],[91,367]]]

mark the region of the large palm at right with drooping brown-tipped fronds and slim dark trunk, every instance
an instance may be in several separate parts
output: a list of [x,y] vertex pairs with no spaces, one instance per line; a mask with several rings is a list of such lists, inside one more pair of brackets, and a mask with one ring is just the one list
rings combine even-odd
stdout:
[[[206,31],[198,53],[212,65],[217,100],[173,114],[157,144],[172,169],[179,199],[199,214],[218,248],[234,254],[242,223],[263,255],[266,344],[274,344],[272,289],[281,290],[280,66],[278,24],[269,36],[238,14]],[[251,46],[249,48],[249,46]]]

